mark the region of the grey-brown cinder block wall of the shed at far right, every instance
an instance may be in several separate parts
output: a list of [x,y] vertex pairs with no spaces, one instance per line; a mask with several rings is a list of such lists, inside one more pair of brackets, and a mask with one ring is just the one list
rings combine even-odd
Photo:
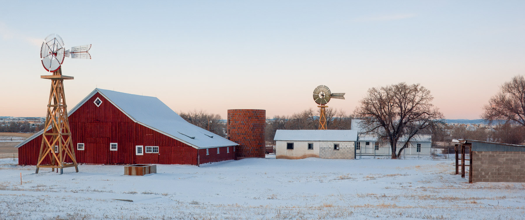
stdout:
[[472,183],[525,183],[525,152],[472,152]]

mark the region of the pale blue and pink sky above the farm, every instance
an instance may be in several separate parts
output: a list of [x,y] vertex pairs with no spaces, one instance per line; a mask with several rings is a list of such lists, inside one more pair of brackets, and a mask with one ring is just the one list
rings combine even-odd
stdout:
[[[96,87],[156,96],[174,111],[316,108],[312,91],[400,82],[432,91],[445,117],[479,118],[525,74],[525,1],[4,1],[0,116],[45,116],[39,50],[51,33],[93,59],[62,65],[67,104]],[[140,103],[138,103],[140,105]]]

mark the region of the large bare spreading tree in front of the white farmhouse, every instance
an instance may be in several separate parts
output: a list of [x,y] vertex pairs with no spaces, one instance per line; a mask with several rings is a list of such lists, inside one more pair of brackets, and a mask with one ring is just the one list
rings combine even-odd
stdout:
[[[390,143],[392,158],[398,158],[412,138],[444,124],[443,114],[431,103],[433,99],[430,91],[419,84],[370,88],[354,116],[363,119],[361,126],[366,133]],[[397,149],[402,137],[405,144]]]

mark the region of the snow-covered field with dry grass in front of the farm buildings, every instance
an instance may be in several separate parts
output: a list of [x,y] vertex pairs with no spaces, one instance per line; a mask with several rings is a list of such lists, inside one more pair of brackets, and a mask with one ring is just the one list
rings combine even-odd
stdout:
[[452,159],[242,159],[148,176],[16,164],[0,159],[2,220],[525,219],[525,184],[468,184]]

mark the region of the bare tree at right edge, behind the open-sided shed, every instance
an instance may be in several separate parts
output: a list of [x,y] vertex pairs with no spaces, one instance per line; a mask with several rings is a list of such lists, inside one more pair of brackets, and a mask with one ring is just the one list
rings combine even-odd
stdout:
[[510,82],[503,83],[484,109],[481,118],[490,123],[502,120],[525,126],[525,78],[514,76]]

